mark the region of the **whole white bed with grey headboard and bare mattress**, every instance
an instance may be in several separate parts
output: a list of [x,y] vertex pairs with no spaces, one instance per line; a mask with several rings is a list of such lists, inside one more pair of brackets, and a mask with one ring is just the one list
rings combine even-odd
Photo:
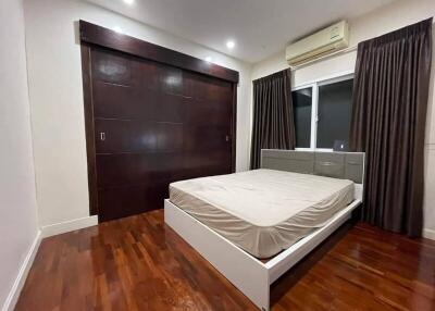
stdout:
[[363,172],[363,153],[262,150],[260,170],[171,184],[165,223],[269,310],[270,285],[361,203]]

